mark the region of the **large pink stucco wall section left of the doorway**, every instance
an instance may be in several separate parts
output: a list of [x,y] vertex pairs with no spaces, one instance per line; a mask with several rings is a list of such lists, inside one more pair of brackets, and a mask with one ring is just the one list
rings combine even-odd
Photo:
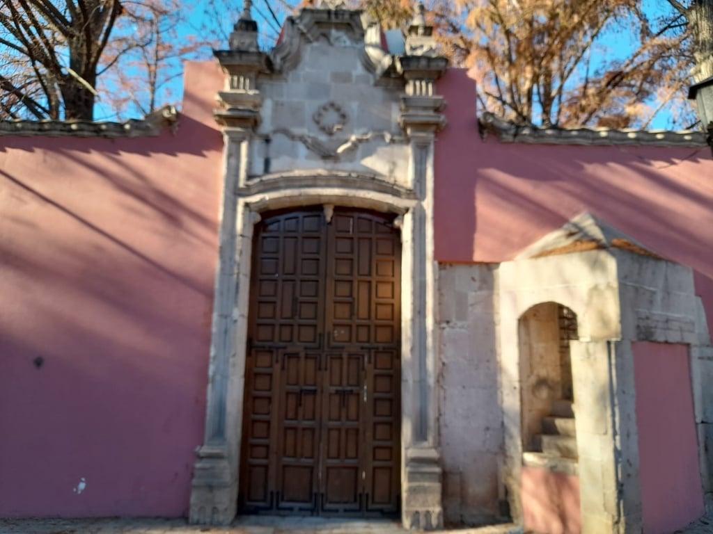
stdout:
[[187,513],[221,83],[188,66],[180,125],[160,137],[0,137],[0,516]]

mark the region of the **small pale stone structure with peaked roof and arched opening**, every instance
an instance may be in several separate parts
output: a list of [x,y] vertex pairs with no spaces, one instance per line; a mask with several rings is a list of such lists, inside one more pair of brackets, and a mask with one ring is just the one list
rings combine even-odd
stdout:
[[[578,339],[571,340],[570,347],[582,531],[639,532],[647,506],[642,503],[639,464],[645,444],[637,437],[640,414],[632,344],[687,345],[694,366],[707,362],[700,357],[701,352],[710,353],[707,323],[690,269],[665,261],[603,221],[583,214],[514,261],[502,263],[498,293],[506,480],[513,515],[522,517],[523,507],[530,504],[518,496],[526,478],[520,424],[523,398],[533,386],[530,377],[522,375],[523,355],[512,341],[518,339],[516,318],[539,303],[554,301],[578,318]],[[694,372],[694,383],[698,376]],[[690,391],[687,384],[680,387],[683,394]],[[700,394],[696,397],[700,410],[704,402]],[[690,418],[690,433],[679,440],[696,442],[693,414],[681,417]],[[702,419],[697,417],[696,422],[703,438]],[[703,509],[699,477],[704,483],[708,480],[705,462],[701,466],[702,472],[692,480],[670,481],[686,487],[699,513]],[[542,528],[541,523],[531,526]]]

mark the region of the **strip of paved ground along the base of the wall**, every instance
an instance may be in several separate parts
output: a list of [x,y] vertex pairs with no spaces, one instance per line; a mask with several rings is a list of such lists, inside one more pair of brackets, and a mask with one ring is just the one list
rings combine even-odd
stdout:
[[[0,534],[406,534],[400,523],[323,518],[238,518],[229,527],[188,525],[185,519],[0,519]],[[523,534],[513,524],[444,530],[447,534]],[[713,512],[672,534],[713,534]]]

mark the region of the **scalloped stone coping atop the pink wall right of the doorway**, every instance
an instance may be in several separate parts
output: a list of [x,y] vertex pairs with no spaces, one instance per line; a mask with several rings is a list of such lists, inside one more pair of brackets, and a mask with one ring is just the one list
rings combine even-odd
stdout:
[[609,128],[576,128],[517,125],[491,112],[478,119],[481,137],[495,135],[506,143],[530,145],[630,145],[649,147],[706,147],[702,132],[682,130],[610,130]]

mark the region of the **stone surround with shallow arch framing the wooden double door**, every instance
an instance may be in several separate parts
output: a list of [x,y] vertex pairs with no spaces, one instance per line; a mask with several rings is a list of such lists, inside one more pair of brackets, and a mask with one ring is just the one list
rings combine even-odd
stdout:
[[[232,174],[236,179],[237,173]],[[434,424],[436,399],[433,394],[434,353],[429,337],[433,332],[435,272],[426,248],[426,217],[413,194],[381,185],[380,191],[358,189],[354,176],[339,174],[312,177],[322,182],[313,192],[303,184],[291,187],[286,177],[275,177],[282,187],[246,195],[236,204],[228,202],[223,212],[223,231],[232,235],[221,248],[216,287],[216,307],[211,351],[205,444],[198,451],[191,494],[191,520],[197,523],[229,523],[237,512],[240,444],[245,392],[245,360],[248,342],[249,290],[252,278],[252,242],[255,224],[262,214],[275,209],[302,209],[321,205],[333,212],[335,206],[391,213],[401,239],[401,456],[400,476],[404,523],[421,527],[438,526],[441,518],[441,472],[438,464]],[[232,185],[227,184],[230,190]],[[265,186],[267,187],[267,186]],[[230,197],[228,197],[230,198]],[[258,211],[259,210],[259,211]],[[235,226],[230,221],[237,221]],[[415,496],[414,496],[415,495]],[[416,504],[409,507],[409,498]],[[431,503],[428,505],[427,503]],[[424,506],[426,503],[426,506]],[[414,509],[415,508],[415,509]],[[415,515],[414,515],[415,514]]]

